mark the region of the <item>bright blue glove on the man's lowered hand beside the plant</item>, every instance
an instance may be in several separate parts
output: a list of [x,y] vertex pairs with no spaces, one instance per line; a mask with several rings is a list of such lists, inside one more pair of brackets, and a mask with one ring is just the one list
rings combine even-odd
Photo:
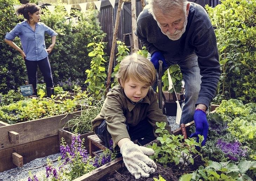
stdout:
[[197,109],[194,114],[194,121],[196,125],[196,132],[192,133],[191,137],[197,137],[196,142],[199,141],[198,135],[203,135],[204,140],[202,142],[202,146],[206,144],[207,134],[208,134],[208,122],[206,118],[206,113],[203,110]]

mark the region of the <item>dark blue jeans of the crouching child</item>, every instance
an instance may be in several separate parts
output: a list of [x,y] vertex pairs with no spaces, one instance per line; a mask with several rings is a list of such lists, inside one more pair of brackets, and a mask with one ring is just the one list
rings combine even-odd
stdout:
[[[138,140],[138,145],[145,145],[156,139],[153,133],[153,127],[147,119],[140,121],[136,126],[129,126],[128,124],[126,126],[131,140]],[[105,146],[109,148],[111,135],[107,130],[106,120],[95,128],[95,133],[105,143]]]

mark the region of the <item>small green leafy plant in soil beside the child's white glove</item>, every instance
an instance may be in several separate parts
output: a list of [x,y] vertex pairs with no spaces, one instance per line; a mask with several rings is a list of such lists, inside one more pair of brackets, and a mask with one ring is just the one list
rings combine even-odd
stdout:
[[185,139],[184,142],[182,142],[184,136],[169,135],[169,132],[164,129],[166,123],[157,122],[156,125],[158,127],[156,133],[159,133],[159,137],[156,139],[160,141],[160,145],[157,146],[156,143],[153,143],[152,146],[148,146],[155,151],[155,154],[150,156],[151,159],[160,162],[164,166],[167,166],[167,164],[171,162],[178,165],[180,163],[180,159],[182,158],[182,167],[184,167],[188,162],[194,164],[192,154],[198,154],[202,157],[202,154],[196,150],[195,146],[201,147],[203,136],[199,135],[199,143],[197,143],[193,138]]

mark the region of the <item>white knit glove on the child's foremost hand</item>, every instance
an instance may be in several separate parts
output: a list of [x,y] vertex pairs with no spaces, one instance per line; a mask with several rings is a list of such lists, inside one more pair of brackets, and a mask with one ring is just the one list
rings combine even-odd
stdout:
[[141,176],[149,177],[149,174],[156,171],[155,162],[147,156],[155,154],[153,149],[128,141],[123,143],[120,152],[126,168],[135,176],[135,179],[139,179]]

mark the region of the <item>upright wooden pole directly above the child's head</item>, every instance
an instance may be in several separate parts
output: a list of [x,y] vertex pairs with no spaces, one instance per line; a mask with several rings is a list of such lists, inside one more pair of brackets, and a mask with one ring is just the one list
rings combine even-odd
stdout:
[[133,34],[133,45],[134,45],[134,52],[139,50],[139,43],[138,37],[134,34],[136,31],[136,24],[137,24],[137,16],[136,16],[136,0],[131,1],[132,5],[132,34]]

